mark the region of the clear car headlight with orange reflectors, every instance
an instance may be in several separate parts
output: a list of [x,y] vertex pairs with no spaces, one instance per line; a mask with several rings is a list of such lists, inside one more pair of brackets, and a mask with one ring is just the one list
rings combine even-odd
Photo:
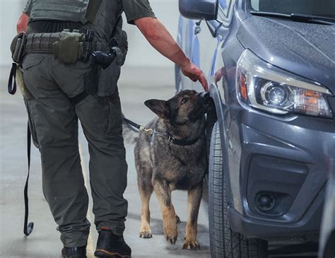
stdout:
[[236,88],[240,101],[259,110],[333,117],[327,102],[332,94],[327,88],[278,69],[248,49],[237,62]]

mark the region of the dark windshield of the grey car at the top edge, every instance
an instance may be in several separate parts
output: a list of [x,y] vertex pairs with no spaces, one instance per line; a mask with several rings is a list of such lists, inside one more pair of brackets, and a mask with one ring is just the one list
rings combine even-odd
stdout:
[[250,0],[254,11],[335,18],[335,0]]

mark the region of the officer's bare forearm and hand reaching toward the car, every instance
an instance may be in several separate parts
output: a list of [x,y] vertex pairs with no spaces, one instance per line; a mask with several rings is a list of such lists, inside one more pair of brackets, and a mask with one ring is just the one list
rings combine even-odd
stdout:
[[192,81],[200,81],[205,90],[208,85],[204,73],[185,56],[165,26],[156,18],[145,17],[134,20],[148,42],[165,57],[180,65],[182,73]]

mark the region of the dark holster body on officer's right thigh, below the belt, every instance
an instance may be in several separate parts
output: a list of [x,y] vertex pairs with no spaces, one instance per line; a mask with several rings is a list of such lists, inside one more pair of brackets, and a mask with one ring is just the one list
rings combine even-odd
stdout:
[[121,67],[114,60],[106,69],[99,67],[98,92],[100,97],[112,95],[117,88]]

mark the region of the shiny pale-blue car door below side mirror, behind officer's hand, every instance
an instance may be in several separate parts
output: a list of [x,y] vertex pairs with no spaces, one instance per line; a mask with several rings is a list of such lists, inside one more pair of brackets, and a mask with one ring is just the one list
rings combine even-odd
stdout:
[[[221,58],[218,58],[220,48],[225,36],[228,35],[231,13],[235,0],[219,0],[218,20],[189,20],[180,17],[177,41],[191,61],[204,71],[208,83],[215,81],[216,69],[222,67]],[[214,29],[219,28],[220,33],[214,34]],[[192,82],[176,68],[177,91],[194,89],[202,91],[199,82]]]

